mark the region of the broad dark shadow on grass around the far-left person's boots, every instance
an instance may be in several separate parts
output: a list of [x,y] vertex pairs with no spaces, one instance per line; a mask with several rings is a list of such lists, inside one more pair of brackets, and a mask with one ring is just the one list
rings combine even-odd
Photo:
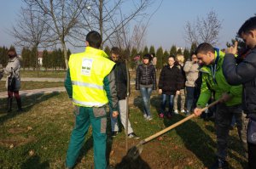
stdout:
[[25,114],[32,109],[33,106],[44,102],[50,98],[53,98],[60,93],[49,93],[49,94],[33,94],[32,96],[21,97],[21,112],[17,112],[17,104],[15,98],[13,99],[12,111],[7,112],[7,99],[0,99],[0,125],[4,121],[14,118],[16,115]]

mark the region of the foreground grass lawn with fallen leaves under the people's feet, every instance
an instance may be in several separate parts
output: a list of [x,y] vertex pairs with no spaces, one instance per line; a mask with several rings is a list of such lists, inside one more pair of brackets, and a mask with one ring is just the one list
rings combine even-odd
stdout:
[[[139,93],[132,90],[131,96],[131,126],[141,138],[129,138],[129,147],[183,118],[183,115],[175,115],[171,120],[158,118],[160,97],[154,92],[151,99],[154,119],[145,121]],[[6,105],[2,104],[6,100],[0,99],[0,168],[64,168],[67,145],[73,129],[73,104],[67,94],[34,95],[23,98],[22,101],[24,112],[7,114]],[[242,156],[236,130],[232,130],[230,136],[230,168],[243,168],[247,161]],[[90,129],[76,169],[93,166],[92,144]],[[207,168],[214,161],[215,151],[213,122],[195,118],[144,144],[137,166],[147,164],[152,169]],[[108,163],[115,166],[125,154],[123,129],[116,138],[108,137]]]

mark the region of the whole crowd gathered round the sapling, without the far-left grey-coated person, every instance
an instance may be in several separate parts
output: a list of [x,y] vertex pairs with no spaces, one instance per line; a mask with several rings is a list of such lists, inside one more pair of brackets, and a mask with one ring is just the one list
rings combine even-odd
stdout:
[[[217,135],[216,161],[212,169],[228,168],[228,136],[233,116],[236,118],[237,132],[241,139],[241,147],[247,151],[248,168],[256,168],[256,17],[247,20],[238,31],[238,35],[250,48],[247,57],[237,64],[235,48],[228,48],[226,54],[218,48],[213,48],[207,42],[201,43],[191,56],[191,61],[183,65],[183,57],[168,58],[168,64],[160,72],[159,93],[161,99],[160,117],[171,117],[177,113],[173,103],[177,96],[187,93],[185,115],[194,113],[199,116],[202,108],[210,99],[218,100],[215,126]],[[129,74],[124,63],[119,62],[119,49],[112,49],[112,60],[100,50],[102,38],[96,31],[90,31],[86,36],[84,53],[72,54],[69,59],[69,69],[65,87],[68,96],[75,104],[75,127],[67,149],[67,168],[72,168],[82,148],[84,136],[90,123],[94,139],[95,168],[107,168],[106,163],[106,104],[112,110],[112,130],[118,131],[116,118],[121,116],[121,122],[128,126],[125,133],[131,138],[137,137],[127,125],[127,96],[129,93]],[[136,89],[143,98],[143,116],[152,120],[150,112],[150,95],[156,90],[156,73],[150,54],[143,55],[143,63],[137,67]],[[175,64],[176,62],[176,64]],[[201,72],[201,85],[196,80]],[[201,87],[199,98],[196,99],[196,87]],[[185,92],[186,90],[186,92]],[[125,94],[126,93],[126,94]],[[169,99],[169,111],[166,113],[166,100]],[[196,102],[196,104],[195,104]],[[182,101],[181,103],[184,103]],[[194,106],[195,104],[195,106]],[[193,108],[195,107],[195,110]],[[174,110],[173,110],[174,108]],[[245,115],[243,115],[243,113]],[[245,124],[245,117],[249,120]],[[124,118],[124,119],[123,119]],[[246,129],[247,127],[247,129]],[[246,131],[247,130],[247,131]],[[247,144],[247,146],[245,146]]]

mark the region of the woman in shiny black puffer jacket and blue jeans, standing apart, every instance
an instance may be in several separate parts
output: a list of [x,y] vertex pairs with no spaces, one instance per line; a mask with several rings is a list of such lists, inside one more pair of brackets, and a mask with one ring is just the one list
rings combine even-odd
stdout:
[[143,97],[143,116],[148,121],[152,120],[150,113],[150,95],[156,89],[156,75],[154,65],[150,62],[151,55],[143,55],[143,64],[138,65],[136,75],[136,90],[140,90]]

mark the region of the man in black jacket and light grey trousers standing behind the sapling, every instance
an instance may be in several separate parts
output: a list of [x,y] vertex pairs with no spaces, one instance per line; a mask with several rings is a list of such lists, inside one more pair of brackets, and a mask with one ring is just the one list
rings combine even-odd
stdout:
[[[111,59],[116,64],[113,67],[114,70],[114,77],[115,77],[115,84],[116,84],[116,91],[117,96],[119,99],[119,118],[121,120],[122,125],[124,128],[126,127],[126,97],[127,97],[127,81],[129,78],[127,78],[127,70],[126,65],[123,60],[119,57],[119,48],[113,47],[111,48]],[[111,128],[112,128],[112,136],[115,137],[119,132],[118,127],[118,119],[113,118],[111,116]],[[137,135],[133,132],[133,129],[131,127],[131,123],[128,119],[128,137],[129,138],[138,138]]]

